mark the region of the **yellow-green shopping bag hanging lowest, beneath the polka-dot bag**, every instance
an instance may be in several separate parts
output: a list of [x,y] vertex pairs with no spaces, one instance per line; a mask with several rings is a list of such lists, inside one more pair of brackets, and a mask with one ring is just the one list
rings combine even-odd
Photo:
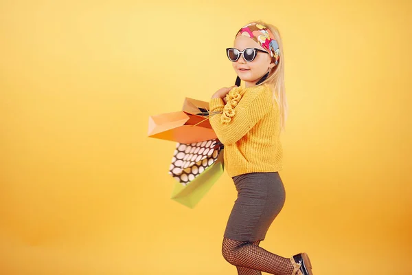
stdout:
[[210,166],[207,166],[207,168],[194,177],[192,181],[187,182],[185,185],[176,181],[172,190],[171,199],[188,208],[194,208],[223,174],[225,168],[223,151],[224,149],[221,149],[216,161]]

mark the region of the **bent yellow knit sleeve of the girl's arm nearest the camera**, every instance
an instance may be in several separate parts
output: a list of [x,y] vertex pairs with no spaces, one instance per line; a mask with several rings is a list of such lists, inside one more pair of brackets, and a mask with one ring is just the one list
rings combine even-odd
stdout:
[[[221,100],[222,102],[219,102]],[[218,106],[223,109],[223,100],[212,98],[210,109]],[[220,107],[222,109],[220,109]],[[222,144],[233,144],[246,135],[256,123],[261,120],[268,110],[273,107],[273,98],[270,89],[260,89],[244,94],[240,102],[234,108],[235,115],[227,124],[222,124],[222,114],[212,115],[210,124]],[[218,110],[216,110],[218,111]]]

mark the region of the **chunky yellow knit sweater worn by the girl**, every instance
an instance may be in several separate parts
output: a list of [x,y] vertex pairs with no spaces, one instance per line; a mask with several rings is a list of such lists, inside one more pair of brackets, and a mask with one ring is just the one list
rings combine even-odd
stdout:
[[230,177],[282,169],[280,112],[267,85],[234,87],[221,98],[211,98],[210,124],[225,145],[225,170]]

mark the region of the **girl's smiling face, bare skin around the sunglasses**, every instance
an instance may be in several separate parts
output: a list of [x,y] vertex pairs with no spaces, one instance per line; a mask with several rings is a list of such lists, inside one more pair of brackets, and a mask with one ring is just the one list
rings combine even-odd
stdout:
[[[247,47],[251,48],[258,48],[260,50],[264,50],[261,45],[256,43],[253,39],[247,36],[238,36],[236,37],[233,47],[242,51]],[[271,60],[271,54],[266,54],[264,52],[257,51],[255,59],[251,62],[247,62],[243,58],[243,54],[239,57],[236,62],[232,62],[233,69],[235,69],[236,74],[239,78],[244,81],[246,87],[254,86],[266,72],[268,72],[269,68],[275,66],[275,63]]]

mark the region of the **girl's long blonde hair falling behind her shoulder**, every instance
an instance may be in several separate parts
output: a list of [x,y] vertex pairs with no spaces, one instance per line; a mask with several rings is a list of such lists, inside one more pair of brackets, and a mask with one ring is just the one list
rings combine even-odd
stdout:
[[279,30],[277,30],[275,25],[265,23],[261,20],[251,21],[248,24],[250,23],[258,23],[260,25],[266,26],[266,28],[271,30],[273,36],[275,36],[277,45],[279,45],[279,62],[277,63],[277,65],[275,65],[275,67],[273,67],[273,69],[271,69],[271,72],[269,72],[269,75],[266,78],[266,80],[262,82],[262,85],[268,85],[269,87],[271,87],[273,91],[273,98],[275,98],[277,104],[279,105],[280,129],[284,131],[286,128],[286,119],[288,118],[288,102],[286,99],[285,89],[285,64],[282,37],[280,36]]

